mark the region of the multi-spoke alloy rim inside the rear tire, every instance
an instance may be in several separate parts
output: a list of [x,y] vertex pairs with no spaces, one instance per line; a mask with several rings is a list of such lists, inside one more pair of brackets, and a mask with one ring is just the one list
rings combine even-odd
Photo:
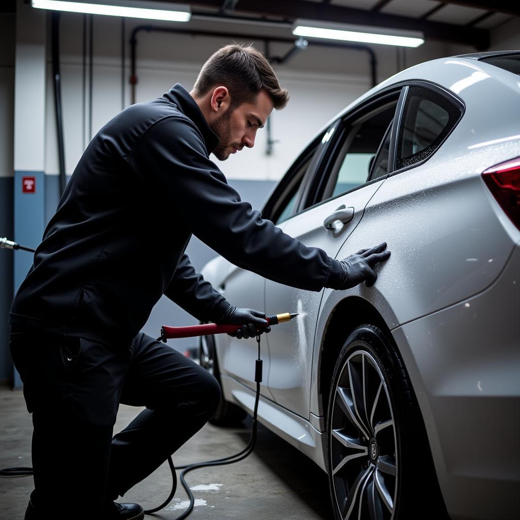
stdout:
[[365,350],[350,354],[337,379],[329,446],[341,518],[394,518],[398,482],[394,413],[381,369]]

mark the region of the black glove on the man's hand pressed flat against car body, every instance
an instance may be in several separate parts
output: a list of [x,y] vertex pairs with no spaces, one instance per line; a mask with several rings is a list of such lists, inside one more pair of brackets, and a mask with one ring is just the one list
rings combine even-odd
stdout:
[[376,245],[375,248],[361,249],[353,255],[347,256],[340,262],[343,268],[343,278],[339,287],[333,289],[345,290],[356,287],[358,283],[365,282],[367,287],[371,287],[378,275],[374,267],[379,262],[384,262],[390,256],[386,249],[386,242]]

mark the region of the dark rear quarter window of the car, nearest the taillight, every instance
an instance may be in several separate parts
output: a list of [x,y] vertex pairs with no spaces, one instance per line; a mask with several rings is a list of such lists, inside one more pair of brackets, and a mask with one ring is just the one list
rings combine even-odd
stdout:
[[424,87],[410,87],[399,129],[396,169],[431,157],[460,115],[459,107],[443,95]]

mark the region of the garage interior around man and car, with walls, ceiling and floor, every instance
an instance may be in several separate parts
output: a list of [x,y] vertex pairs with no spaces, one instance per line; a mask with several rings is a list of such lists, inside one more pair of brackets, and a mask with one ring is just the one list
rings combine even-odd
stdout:
[[[262,208],[320,128],[371,87],[428,60],[520,48],[520,5],[506,0],[202,0],[186,5],[191,19],[179,23],[57,15],[28,0],[0,4],[0,238],[35,248],[99,129],[124,108],[160,97],[175,83],[191,89],[204,61],[233,41],[261,50],[291,97],[287,108],[272,113],[253,149],[220,164],[229,184],[255,209]],[[418,31],[424,44],[405,48],[297,36],[293,27],[299,19]],[[23,180],[28,178],[29,187]],[[195,237],[187,253],[198,270],[216,256]],[[11,360],[7,323],[31,264],[30,253],[0,250],[0,468],[32,465],[31,416]],[[164,324],[196,323],[163,296],[143,331],[156,337]],[[170,344],[197,356],[196,339]],[[135,413],[121,406],[114,431]],[[250,418],[230,428],[207,424],[176,453],[175,464],[241,450],[250,426]],[[188,479],[196,497],[193,518],[332,518],[326,474],[263,426],[248,459],[194,472]],[[32,488],[30,476],[0,477],[0,518],[22,518]],[[170,488],[165,462],[125,501],[150,508]],[[157,517],[173,520],[186,505],[179,486]]]

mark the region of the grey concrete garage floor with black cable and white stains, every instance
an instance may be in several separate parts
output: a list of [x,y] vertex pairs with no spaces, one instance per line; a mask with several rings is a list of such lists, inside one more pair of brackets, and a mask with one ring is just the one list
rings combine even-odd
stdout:
[[[114,431],[120,431],[140,411],[121,405]],[[174,455],[174,464],[225,457],[240,451],[249,441],[250,419],[242,428],[206,424]],[[31,466],[31,415],[21,391],[0,388],[0,467]],[[177,472],[178,474],[178,472]],[[267,428],[259,426],[255,451],[228,466],[203,468],[186,477],[196,506],[190,518],[240,520],[323,520],[332,518],[327,476],[319,467]],[[23,518],[32,477],[0,477],[0,519]],[[171,490],[167,462],[126,493],[120,501],[137,502],[150,509],[165,500]],[[188,499],[184,489],[155,518],[173,520]],[[152,518],[148,516],[147,518]]]

